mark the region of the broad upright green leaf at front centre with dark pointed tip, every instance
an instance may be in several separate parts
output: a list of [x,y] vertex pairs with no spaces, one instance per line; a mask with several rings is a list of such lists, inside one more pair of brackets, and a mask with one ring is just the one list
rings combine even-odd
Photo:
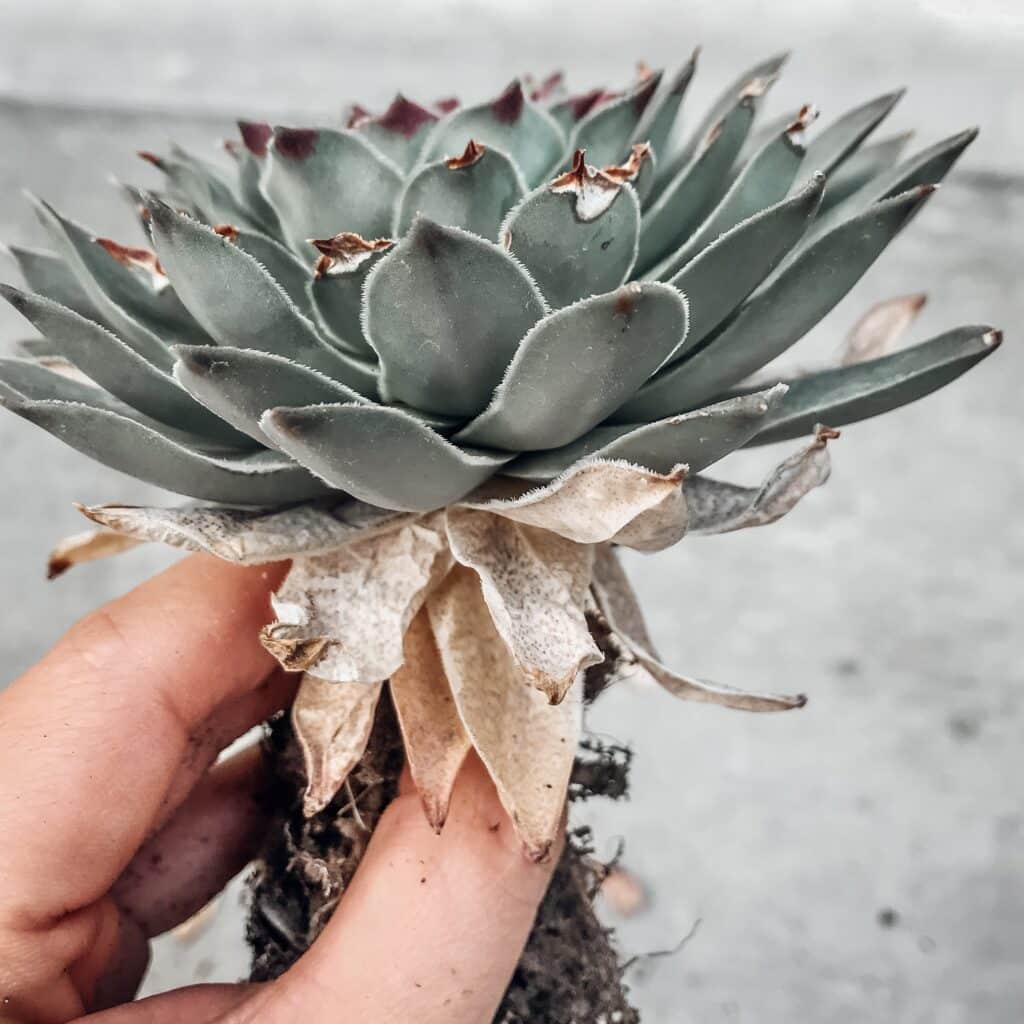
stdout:
[[367,278],[364,329],[381,360],[382,395],[441,416],[475,415],[546,311],[502,248],[418,218]]

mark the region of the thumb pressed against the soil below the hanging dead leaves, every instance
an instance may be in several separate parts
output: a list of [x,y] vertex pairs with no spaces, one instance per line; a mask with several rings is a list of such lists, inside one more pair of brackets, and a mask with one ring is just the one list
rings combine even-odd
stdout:
[[[259,998],[261,1020],[482,1024],[526,944],[564,837],[543,864],[523,855],[475,756],[444,830],[418,798],[387,809],[341,905],[309,952]],[[276,1007],[274,1007],[276,1004]]]

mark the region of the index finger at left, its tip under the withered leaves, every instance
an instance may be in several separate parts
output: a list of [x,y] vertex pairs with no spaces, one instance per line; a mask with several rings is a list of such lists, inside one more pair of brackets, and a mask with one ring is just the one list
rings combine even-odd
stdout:
[[0,694],[5,913],[45,925],[105,893],[195,731],[273,669],[258,633],[284,571],[183,559],[82,620]]

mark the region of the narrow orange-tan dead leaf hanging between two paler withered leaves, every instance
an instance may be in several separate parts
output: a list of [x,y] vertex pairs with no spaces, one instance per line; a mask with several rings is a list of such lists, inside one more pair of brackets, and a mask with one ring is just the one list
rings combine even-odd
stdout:
[[440,831],[470,742],[426,609],[417,612],[406,633],[406,662],[392,674],[390,686],[404,740],[406,762],[427,820],[435,831]]

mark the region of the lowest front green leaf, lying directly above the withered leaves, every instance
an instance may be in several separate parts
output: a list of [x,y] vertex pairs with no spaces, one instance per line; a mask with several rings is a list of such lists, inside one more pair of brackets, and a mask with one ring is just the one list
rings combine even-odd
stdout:
[[457,501],[511,458],[457,447],[409,413],[381,406],[278,409],[260,427],[333,486],[403,512]]

